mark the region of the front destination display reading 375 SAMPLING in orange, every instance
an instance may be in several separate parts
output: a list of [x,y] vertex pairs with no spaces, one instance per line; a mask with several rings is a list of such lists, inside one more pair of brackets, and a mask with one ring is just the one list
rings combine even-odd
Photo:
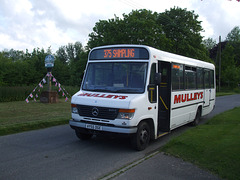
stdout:
[[93,50],[89,60],[112,59],[149,59],[149,53],[144,48],[104,48]]

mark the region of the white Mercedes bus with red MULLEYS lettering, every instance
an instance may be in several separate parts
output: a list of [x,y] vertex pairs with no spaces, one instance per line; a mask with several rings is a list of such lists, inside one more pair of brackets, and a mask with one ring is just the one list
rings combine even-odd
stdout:
[[143,45],[97,47],[72,97],[69,124],[82,140],[125,134],[143,150],[179,126],[197,125],[213,110],[215,93],[211,63]]

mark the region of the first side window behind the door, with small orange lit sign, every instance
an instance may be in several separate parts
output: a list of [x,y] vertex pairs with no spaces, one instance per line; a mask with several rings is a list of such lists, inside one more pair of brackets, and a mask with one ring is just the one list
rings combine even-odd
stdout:
[[183,88],[183,65],[172,64],[172,90],[181,90]]

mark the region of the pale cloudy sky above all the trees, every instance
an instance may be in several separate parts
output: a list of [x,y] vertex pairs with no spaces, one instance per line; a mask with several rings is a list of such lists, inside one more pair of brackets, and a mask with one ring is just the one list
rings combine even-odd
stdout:
[[85,46],[99,20],[137,9],[161,13],[174,6],[199,15],[204,39],[224,40],[240,26],[236,0],[0,0],[0,51],[51,47],[55,52],[77,41]]

